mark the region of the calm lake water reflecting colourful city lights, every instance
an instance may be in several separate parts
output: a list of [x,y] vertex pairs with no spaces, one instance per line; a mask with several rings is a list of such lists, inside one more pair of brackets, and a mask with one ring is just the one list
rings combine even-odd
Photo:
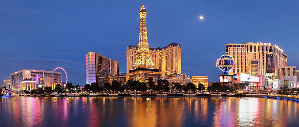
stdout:
[[299,126],[299,103],[265,98],[0,98],[0,127]]

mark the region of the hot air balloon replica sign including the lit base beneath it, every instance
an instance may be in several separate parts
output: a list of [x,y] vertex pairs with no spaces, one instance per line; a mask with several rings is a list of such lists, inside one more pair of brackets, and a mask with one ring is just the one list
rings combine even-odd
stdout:
[[234,58],[224,54],[219,57],[216,66],[223,72],[222,75],[219,75],[220,83],[232,83],[233,75],[229,75],[229,72],[235,67]]

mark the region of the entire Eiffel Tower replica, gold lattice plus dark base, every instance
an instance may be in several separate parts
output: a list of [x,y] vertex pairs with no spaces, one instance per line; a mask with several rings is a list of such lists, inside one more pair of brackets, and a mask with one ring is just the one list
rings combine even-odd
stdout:
[[133,69],[129,70],[129,79],[138,80],[140,82],[148,82],[155,78],[160,78],[159,69],[154,67],[149,53],[148,32],[146,23],[147,11],[144,5],[141,6],[139,42],[136,54],[136,60]]

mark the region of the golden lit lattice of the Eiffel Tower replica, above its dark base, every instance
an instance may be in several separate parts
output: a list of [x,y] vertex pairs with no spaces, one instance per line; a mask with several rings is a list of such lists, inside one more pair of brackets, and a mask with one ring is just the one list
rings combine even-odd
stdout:
[[136,54],[136,61],[134,63],[134,68],[137,67],[154,67],[152,59],[149,54],[149,41],[146,23],[147,11],[142,5],[139,15],[140,15],[140,29],[139,29],[139,42]]

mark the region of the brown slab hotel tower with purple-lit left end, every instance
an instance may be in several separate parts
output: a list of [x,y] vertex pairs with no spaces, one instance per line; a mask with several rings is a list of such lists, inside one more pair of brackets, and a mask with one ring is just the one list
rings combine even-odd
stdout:
[[108,70],[112,76],[118,75],[118,62],[95,52],[85,54],[86,84],[97,83],[100,73]]

